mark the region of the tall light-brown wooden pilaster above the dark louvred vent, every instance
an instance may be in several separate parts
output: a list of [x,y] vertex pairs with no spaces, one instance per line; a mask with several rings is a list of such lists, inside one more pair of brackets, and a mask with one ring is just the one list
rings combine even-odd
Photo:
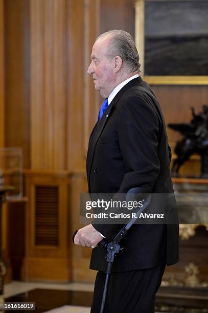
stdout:
[[31,0],[31,168],[66,168],[66,1]]

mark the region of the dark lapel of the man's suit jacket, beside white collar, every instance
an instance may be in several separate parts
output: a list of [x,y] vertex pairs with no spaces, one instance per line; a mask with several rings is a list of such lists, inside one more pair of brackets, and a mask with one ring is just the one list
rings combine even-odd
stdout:
[[106,125],[106,122],[108,120],[108,118],[110,117],[110,114],[112,113],[112,107],[115,106],[117,104],[117,102],[120,100],[120,98],[122,97],[122,95],[132,86],[136,85],[136,84],[140,84],[142,83],[143,80],[142,78],[139,76],[135,79],[132,79],[130,82],[128,82],[120,91],[117,95],[115,95],[115,97],[113,98],[112,102],[110,103],[110,105],[108,106],[107,110],[105,111],[103,117],[101,118],[101,120],[96,123],[95,127],[93,128],[93,130],[91,131],[91,135],[89,138],[89,147],[88,147],[88,151],[87,151],[87,160],[86,160],[86,169],[87,169],[87,180],[88,180],[88,186],[89,186],[89,175],[90,175],[90,170],[91,170],[91,164],[93,163],[93,158],[94,158],[94,153],[95,153],[95,148],[98,142],[98,139],[103,131],[103,128]]

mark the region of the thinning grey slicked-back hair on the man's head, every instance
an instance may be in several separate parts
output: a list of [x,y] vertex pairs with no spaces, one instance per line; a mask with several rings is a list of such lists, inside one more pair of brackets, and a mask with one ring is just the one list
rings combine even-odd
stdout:
[[128,65],[132,72],[140,72],[140,57],[132,36],[123,30],[111,30],[101,34],[97,39],[112,35],[107,49],[107,57],[119,55],[123,63]]

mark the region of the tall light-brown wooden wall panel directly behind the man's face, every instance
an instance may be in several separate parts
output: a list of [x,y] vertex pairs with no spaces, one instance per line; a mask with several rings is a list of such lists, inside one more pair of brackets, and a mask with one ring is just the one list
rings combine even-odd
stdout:
[[85,168],[88,138],[99,112],[99,94],[87,74],[91,48],[99,33],[99,3],[68,1],[67,169],[75,172]]

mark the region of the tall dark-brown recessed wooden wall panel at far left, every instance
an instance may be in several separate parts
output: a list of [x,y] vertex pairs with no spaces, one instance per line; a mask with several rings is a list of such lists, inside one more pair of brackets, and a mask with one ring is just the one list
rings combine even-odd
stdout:
[[29,1],[4,1],[5,146],[22,147],[30,167]]

